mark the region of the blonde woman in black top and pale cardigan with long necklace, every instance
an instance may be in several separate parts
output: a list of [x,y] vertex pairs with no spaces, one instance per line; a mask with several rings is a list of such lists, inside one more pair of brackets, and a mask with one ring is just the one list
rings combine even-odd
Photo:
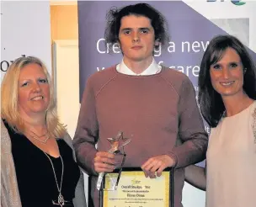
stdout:
[[1,206],[86,206],[72,140],[36,57],[13,61],[1,86]]

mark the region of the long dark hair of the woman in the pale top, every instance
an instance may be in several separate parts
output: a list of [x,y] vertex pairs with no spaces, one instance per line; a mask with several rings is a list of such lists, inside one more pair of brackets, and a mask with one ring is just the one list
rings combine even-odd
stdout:
[[243,91],[249,98],[256,99],[256,69],[248,50],[232,35],[218,35],[205,50],[200,64],[199,103],[201,114],[211,127],[218,125],[225,106],[221,95],[211,85],[210,67],[220,61],[227,48],[232,48],[240,56],[243,64]]

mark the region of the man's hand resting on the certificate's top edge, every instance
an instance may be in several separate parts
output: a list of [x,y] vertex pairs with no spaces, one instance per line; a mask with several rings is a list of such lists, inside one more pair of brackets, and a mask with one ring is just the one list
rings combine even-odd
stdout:
[[172,157],[161,155],[149,158],[147,162],[141,166],[141,169],[144,171],[146,178],[148,176],[149,178],[156,178],[156,172],[157,177],[160,177],[166,167],[173,167],[174,165],[175,161]]

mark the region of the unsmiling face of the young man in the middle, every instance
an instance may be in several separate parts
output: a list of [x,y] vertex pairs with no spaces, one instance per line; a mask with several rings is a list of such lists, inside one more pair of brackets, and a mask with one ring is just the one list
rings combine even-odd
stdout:
[[119,40],[125,63],[152,61],[154,46],[159,44],[150,19],[136,15],[121,19]]

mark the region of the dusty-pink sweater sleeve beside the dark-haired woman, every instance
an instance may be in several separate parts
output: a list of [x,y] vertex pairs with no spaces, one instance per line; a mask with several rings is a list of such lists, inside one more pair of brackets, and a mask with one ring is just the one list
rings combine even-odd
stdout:
[[169,153],[176,160],[175,167],[186,167],[205,159],[208,135],[195,100],[195,89],[186,77],[179,91],[179,139]]

